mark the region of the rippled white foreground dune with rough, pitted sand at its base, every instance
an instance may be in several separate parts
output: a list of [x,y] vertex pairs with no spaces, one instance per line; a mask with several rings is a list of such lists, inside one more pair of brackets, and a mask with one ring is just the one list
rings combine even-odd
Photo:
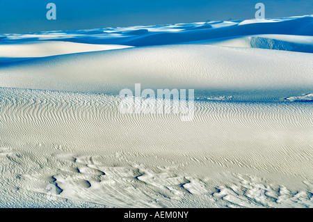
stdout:
[[0,97],[2,207],[313,206],[310,103],[196,102],[182,122],[108,95]]

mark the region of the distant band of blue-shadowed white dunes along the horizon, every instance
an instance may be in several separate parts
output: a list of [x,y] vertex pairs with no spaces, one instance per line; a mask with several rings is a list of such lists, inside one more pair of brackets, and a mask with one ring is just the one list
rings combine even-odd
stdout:
[[[200,40],[232,38],[246,35],[313,35],[313,16],[277,19],[249,19],[207,21],[191,24],[115,27],[73,31],[47,31],[40,33],[5,34],[3,43],[33,41],[81,42],[89,44],[113,44],[151,46],[170,45]],[[299,40],[301,39],[298,38]]]

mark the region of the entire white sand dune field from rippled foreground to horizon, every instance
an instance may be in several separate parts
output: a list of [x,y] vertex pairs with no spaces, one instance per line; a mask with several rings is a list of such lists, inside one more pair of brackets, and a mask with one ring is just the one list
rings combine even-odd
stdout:
[[[313,207],[312,26],[1,35],[0,207]],[[193,120],[122,114],[135,84],[194,89]]]

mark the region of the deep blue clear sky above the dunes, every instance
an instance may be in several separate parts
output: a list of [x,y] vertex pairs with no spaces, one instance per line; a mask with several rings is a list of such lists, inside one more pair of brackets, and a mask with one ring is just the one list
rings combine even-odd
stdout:
[[[56,20],[46,18],[49,2]],[[313,14],[312,0],[0,0],[0,33],[248,19],[258,2],[266,17]]]

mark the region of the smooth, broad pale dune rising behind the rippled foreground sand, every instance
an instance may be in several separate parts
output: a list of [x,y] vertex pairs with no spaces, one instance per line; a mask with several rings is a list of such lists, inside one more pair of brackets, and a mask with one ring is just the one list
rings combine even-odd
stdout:
[[117,94],[141,83],[152,89],[240,91],[241,100],[255,100],[253,91],[261,90],[268,94],[263,100],[277,100],[296,96],[293,91],[310,93],[312,72],[313,54],[174,45],[38,58],[3,66],[0,83],[10,88]]

